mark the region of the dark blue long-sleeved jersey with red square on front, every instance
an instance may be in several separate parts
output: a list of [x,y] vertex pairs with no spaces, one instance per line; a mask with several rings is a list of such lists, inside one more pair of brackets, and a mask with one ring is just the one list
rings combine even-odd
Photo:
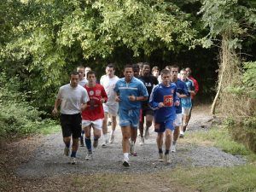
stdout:
[[[154,109],[155,122],[160,123],[176,118],[174,102],[179,100],[176,91],[176,84],[171,84],[169,87],[164,84],[158,84],[154,87],[149,98],[149,105]],[[163,102],[165,107],[158,108],[160,102]]]

